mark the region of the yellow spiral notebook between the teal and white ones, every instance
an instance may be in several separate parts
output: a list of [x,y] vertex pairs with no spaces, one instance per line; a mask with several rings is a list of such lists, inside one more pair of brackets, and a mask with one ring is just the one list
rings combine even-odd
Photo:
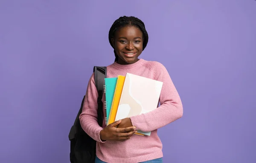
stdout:
[[[108,119],[108,124],[111,124],[115,121],[116,118],[116,112],[117,112],[117,108],[119,106],[119,101],[121,98],[121,94],[122,94],[122,88],[124,86],[125,83],[125,76],[121,76],[119,75],[117,78],[117,82],[116,82],[116,88],[115,88],[115,93],[113,96],[113,101],[111,104],[111,109],[110,109],[110,113],[109,113],[109,119]],[[142,135],[144,136],[144,134],[140,134],[140,133],[135,133],[137,135]]]

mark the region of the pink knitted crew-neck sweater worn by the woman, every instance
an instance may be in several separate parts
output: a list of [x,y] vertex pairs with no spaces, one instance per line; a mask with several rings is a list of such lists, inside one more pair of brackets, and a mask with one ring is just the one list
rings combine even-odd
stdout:
[[94,75],[90,77],[80,122],[84,131],[97,141],[97,157],[107,163],[139,163],[163,157],[162,143],[157,135],[157,129],[183,115],[180,96],[169,73],[162,64],[140,59],[131,65],[119,65],[114,62],[107,67],[108,78],[117,77],[118,75],[125,76],[126,73],[133,73],[163,82],[160,107],[152,112],[131,117],[133,126],[145,132],[151,131],[150,136],[133,135],[131,139],[126,141],[102,142],[99,132],[105,127],[105,124],[102,128],[97,123],[98,93],[95,87]]

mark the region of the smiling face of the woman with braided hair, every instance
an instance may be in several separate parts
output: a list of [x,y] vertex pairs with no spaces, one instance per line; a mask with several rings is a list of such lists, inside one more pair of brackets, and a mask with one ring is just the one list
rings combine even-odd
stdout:
[[143,33],[135,26],[125,26],[115,33],[112,39],[118,55],[119,64],[128,65],[137,62],[143,49]]

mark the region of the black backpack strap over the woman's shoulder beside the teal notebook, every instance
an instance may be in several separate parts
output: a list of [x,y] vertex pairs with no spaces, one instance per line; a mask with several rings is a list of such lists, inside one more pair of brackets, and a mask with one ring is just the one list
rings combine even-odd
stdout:
[[103,123],[103,103],[102,103],[102,96],[103,96],[103,87],[105,84],[104,78],[107,78],[107,67],[98,67],[94,66],[93,67],[93,72],[94,72],[94,80],[95,80],[95,85],[98,91],[98,110],[97,110],[97,115],[98,115],[98,124],[99,126],[102,127]]

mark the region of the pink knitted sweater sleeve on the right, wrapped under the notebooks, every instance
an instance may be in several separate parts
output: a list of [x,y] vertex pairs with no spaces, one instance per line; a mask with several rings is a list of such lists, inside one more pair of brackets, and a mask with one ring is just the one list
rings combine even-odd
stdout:
[[180,96],[177,93],[168,71],[160,63],[157,63],[156,69],[157,70],[154,72],[158,74],[155,74],[155,79],[163,82],[160,94],[160,107],[157,107],[151,112],[130,117],[132,125],[144,132],[159,129],[181,118],[183,115],[183,106]]

